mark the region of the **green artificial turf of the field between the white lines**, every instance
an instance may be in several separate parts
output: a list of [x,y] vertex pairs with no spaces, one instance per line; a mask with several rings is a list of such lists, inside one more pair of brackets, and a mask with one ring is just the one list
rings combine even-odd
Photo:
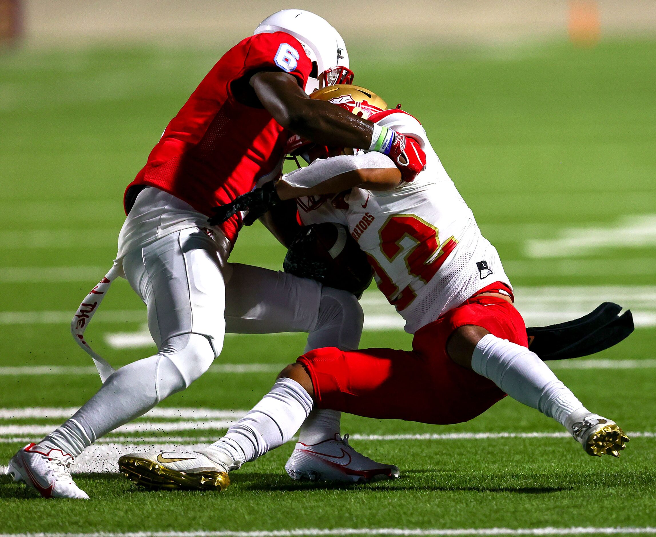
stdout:
[[[640,285],[653,292],[653,234],[627,247],[618,223],[656,214],[656,41],[609,40],[593,49],[569,43],[407,49],[389,60],[351,52],[356,83],[392,106],[400,102],[422,121],[514,285]],[[0,56],[0,311],[75,310],[110,267],[125,186],[219,55],[143,47]],[[544,259],[527,255],[527,241],[560,237],[576,227],[608,229],[617,235],[617,247]],[[241,233],[231,260],[279,268],[283,256],[256,224]],[[18,283],[3,279],[2,272],[79,266],[100,272],[79,281]],[[119,282],[98,317],[111,310],[144,306]],[[89,337],[94,348],[122,365],[149,349],[112,349],[104,335],[139,328],[133,321],[98,323]],[[639,328],[596,357],[652,359],[655,335],[653,324]],[[0,323],[0,341],[0,367],[91,365],[66,323]],[[407,334],[387,330],[365,332],[362,346],[408,348],[409,342]],[[228,336],[218,361],[282,367],[303,344],[301,334]],[[655,372],[558,374],[588,408],[628,431],[654,433]],[[162,405],[245,410],[274,376],[209,372]],[[92,374],[0,376],[0,407],[77,407],[98,386]],[[0,428],[58,421],[3,418]],[[457,426],[343,419],[344,432],[361,435],[560,430],[509,399]],[[220,431],[179,434],[192,441]],[[0,443],[0,466],[21,446],[7,441],[10,436]],[[634,438],[619,460],[588,457],[567,438],[352,443],[398,464],[401,479],[362,487],[295,483],[283,471],[292,444],[234,473],[223,494],[144,492],[117,474],[93,474],[75,478],[89,502],[47,501],[0,477],[0,532],[656,524],[653,436]]]

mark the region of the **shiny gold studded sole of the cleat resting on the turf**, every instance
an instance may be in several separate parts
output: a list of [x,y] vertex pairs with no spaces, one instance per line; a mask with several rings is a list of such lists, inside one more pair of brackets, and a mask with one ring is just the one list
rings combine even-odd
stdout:
[[230,477],[224,471],[201,471],[188,473],[172,470],[152,460],[123,456],[119,458],[119,469],[135,485],[144,488],[178,488],[184,490],[226,490]]

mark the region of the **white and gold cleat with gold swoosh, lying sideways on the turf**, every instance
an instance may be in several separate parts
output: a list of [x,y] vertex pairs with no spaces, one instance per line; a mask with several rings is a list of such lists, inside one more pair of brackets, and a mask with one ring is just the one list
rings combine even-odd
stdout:
[[195,457],[167,459],[163,458],[162,454],[152,455],[154,454],[124,455],[119,458],[119,469],[130,481],[145,488],[222,491],[230,485],[228,472],[221,471],[218,467],[189,467],[184,470],[172,467],[180,467],[180,462],[193,461]]

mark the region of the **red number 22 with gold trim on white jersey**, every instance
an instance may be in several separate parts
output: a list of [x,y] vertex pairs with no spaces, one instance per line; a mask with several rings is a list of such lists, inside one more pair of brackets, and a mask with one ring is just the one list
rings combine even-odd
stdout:
[[[415,214],[395,214],[390,216],[379,230],[380,251],[390,262],[394,262],[402,252],[405,253],[405,266],[409,275],[428,283],[440,270],[446,258],[453,251],[458,241],[449,237],[440,245],[438,228],[428,224]],[[406,248],[401,241],[409,237],[415,243]],[[386,271],[371,254],[367,254],[369,263],[376,273],[380,292],[398,311],[403,311],[417,298],[415,290],[410,285],[399,290]]]

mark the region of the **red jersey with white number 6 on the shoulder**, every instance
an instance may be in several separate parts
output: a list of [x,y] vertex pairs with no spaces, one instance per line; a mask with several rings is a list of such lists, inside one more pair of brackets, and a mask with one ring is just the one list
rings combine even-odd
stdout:
[[[140,187],[154,186],[212,214],[212,207],[251,191],[258,178],[274,171],[289,133],[259,103],[249,85],[257,71],[282,70],[302,88],[312,62],[288,33],[258,33],[228,50],[171,119],[150,151],[146,166],[125,190],[129,212]],[[250,104],[237,101],[233,92]],[[241,226],[237,214],[221,224],[231,243]]]

